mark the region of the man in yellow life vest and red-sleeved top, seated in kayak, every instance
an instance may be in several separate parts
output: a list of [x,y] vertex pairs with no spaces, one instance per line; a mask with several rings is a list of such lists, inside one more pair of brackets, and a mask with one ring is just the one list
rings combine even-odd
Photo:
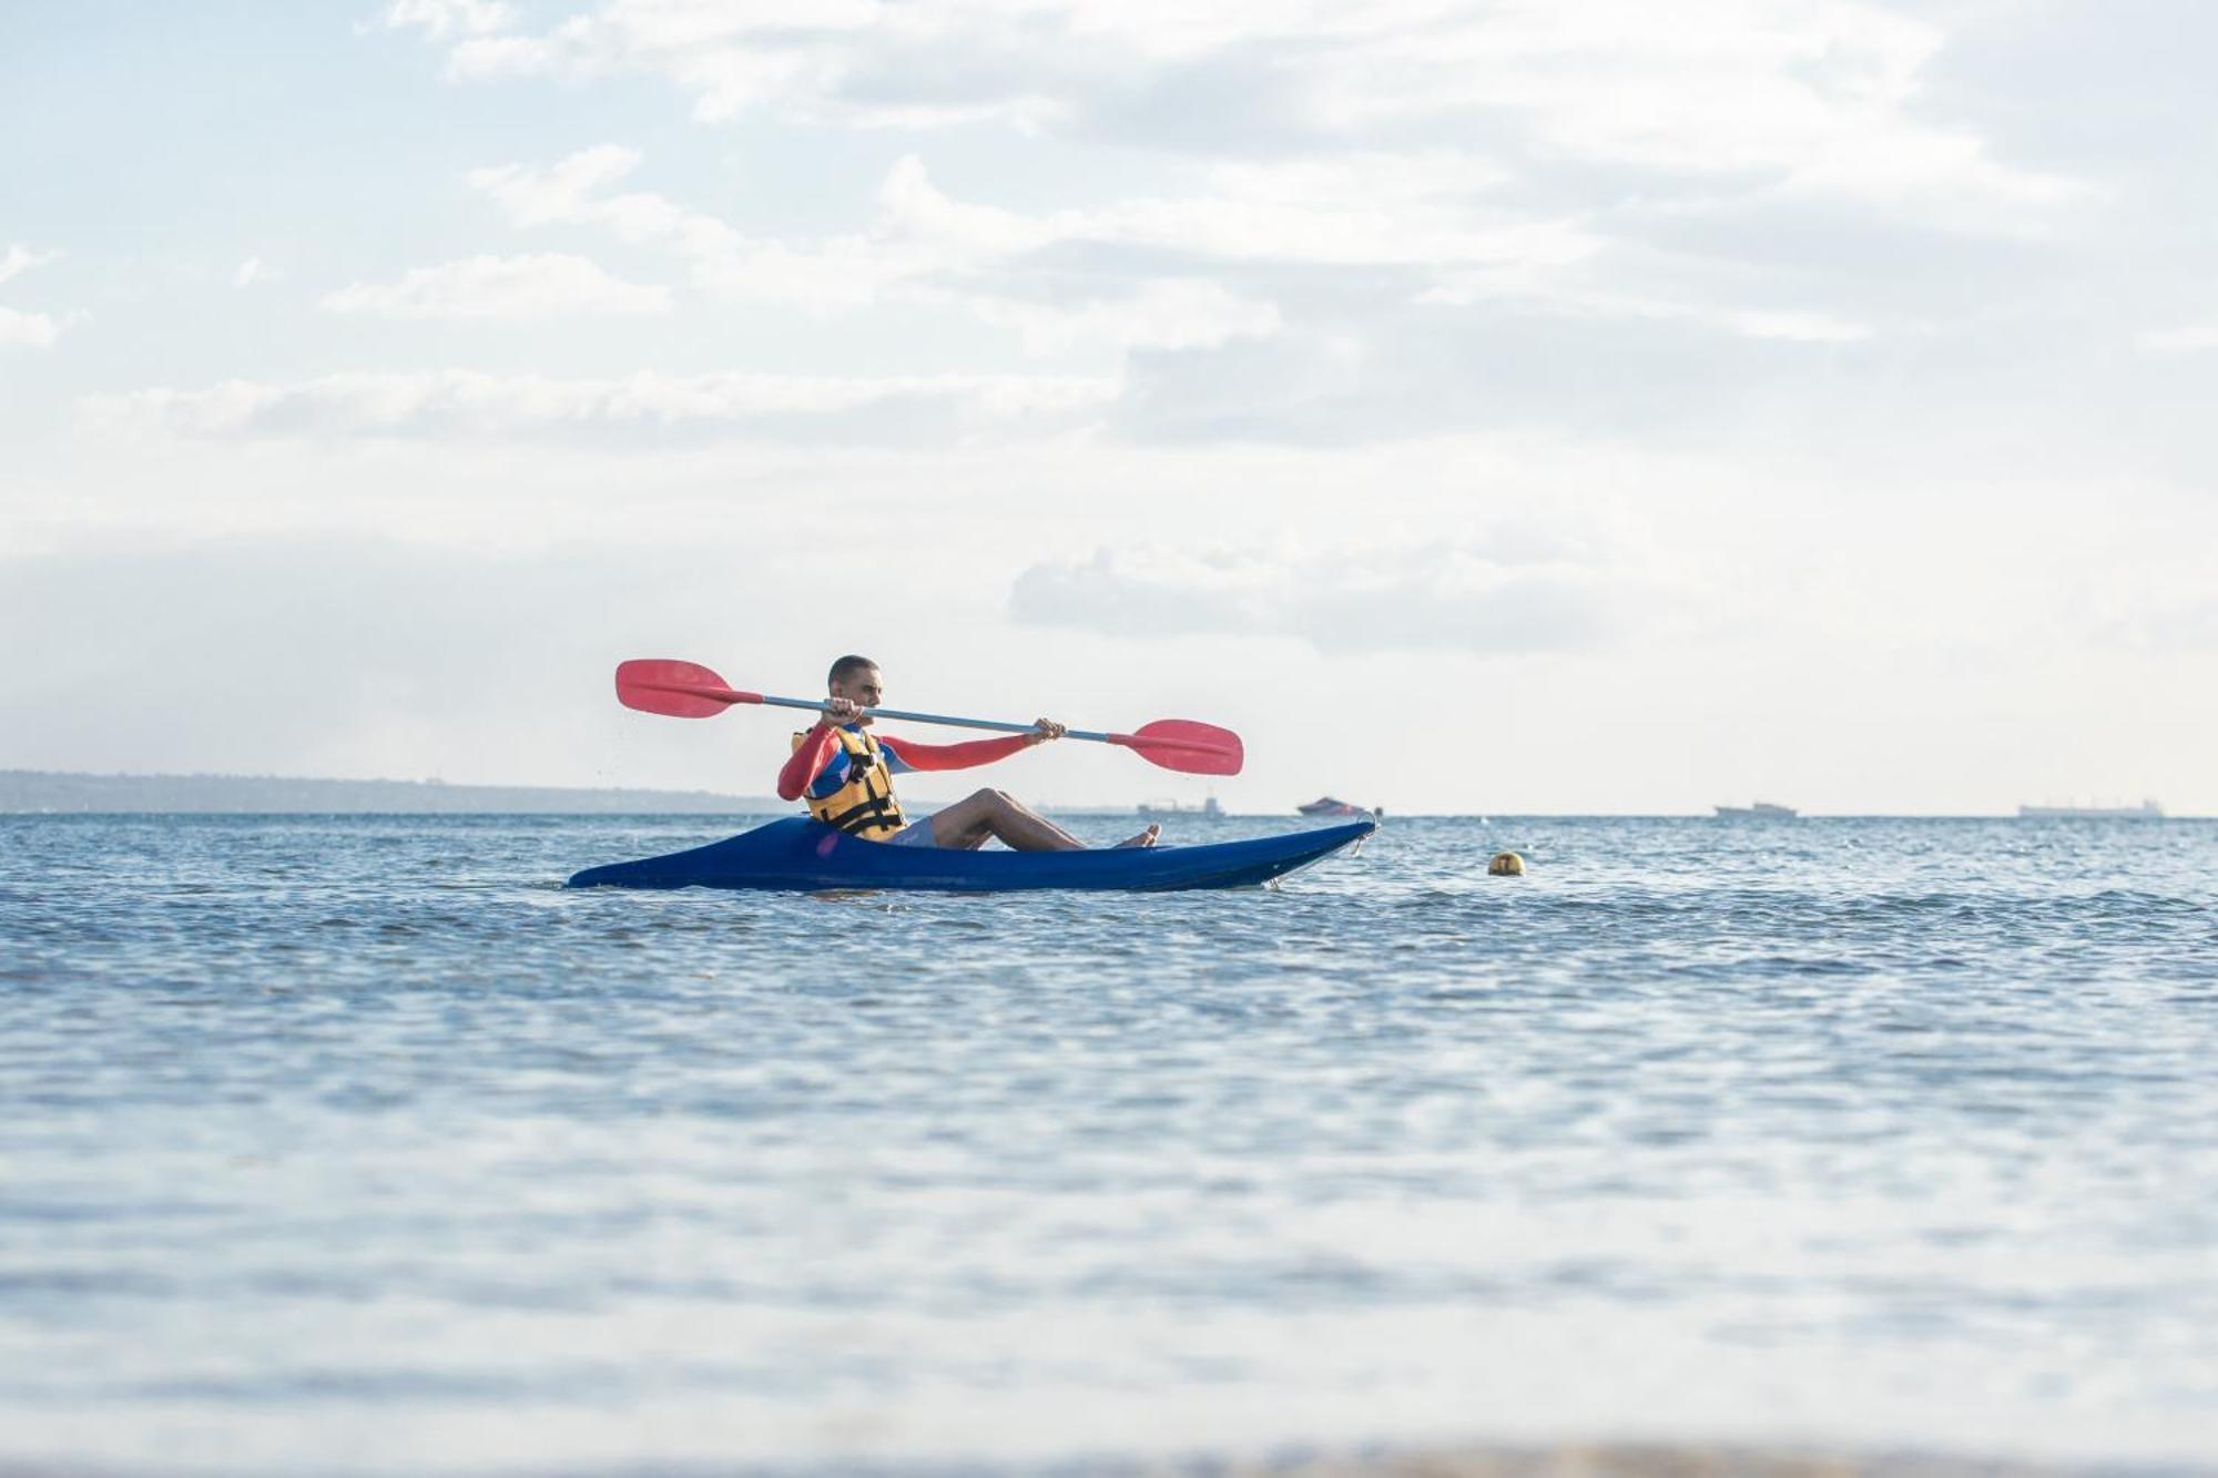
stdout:
[[[885,701],[878,664],[869,657],[841,657],[825,679],[830,692],[825,717],[805,735],[794,735],[794,755],[779,770],[779,799],[807,801],[810,814],[854,837],[885,841],[896,848],[965,848],[1000,837],[1018,852],[1078,852],[1087,843],[1047,817],[1020,806],[1000,790],[978,790],[920,821],[909,821],[894,799],[894,777],[907,770],[969,770],[1007,759],[1049,739],[1065,728],[1040,719],[1029,735],[1007,739],[971,739],[969,743],[916,743],[914,739],[878,739],[869,732],[869,715]],[[1118,846],[1151,848],[1160,826]]]

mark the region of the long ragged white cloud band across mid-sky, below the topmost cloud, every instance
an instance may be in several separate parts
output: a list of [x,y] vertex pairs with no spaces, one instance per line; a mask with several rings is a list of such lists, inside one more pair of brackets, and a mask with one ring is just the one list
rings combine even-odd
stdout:
[[[1258,273],[1306,291],[1337,275],[1346,282],[1337,291],[1375,311],[1404,300],[1486,302],[1810,344],[1879,333],[1865,317],[1792,300],[1721,300],[1726,286],[1690,288],[1701,264],[1612,244],[1568,215],[1502,211],[1488,202],[1493,162],[1455,151],[1218,164],[1193,193],[1042,213],[958,200],[909,155],[885,175],[863,231],[807,242],[750,237],[661,193],[614,189],[637,166],[637,151],[603,144],[546,169],[479,169],[470,182],[517,226],[599,224],[630,246],[679,255],[694,282],[725,297],[810,313],[947,304],[1016,328],[1027,353],[1085,342],[1215,348],[1278,335],[1289,311],[1244,286]],[[1058,266],[1038,266],[1051,257]],[[1182,271],[1164,271],[1167,262]],[[1238,275],[1242,288],[1204,273]],[[1770,297],[1792,295],[1792,282],[1781,288],[1772,277],[1761,282]]]

